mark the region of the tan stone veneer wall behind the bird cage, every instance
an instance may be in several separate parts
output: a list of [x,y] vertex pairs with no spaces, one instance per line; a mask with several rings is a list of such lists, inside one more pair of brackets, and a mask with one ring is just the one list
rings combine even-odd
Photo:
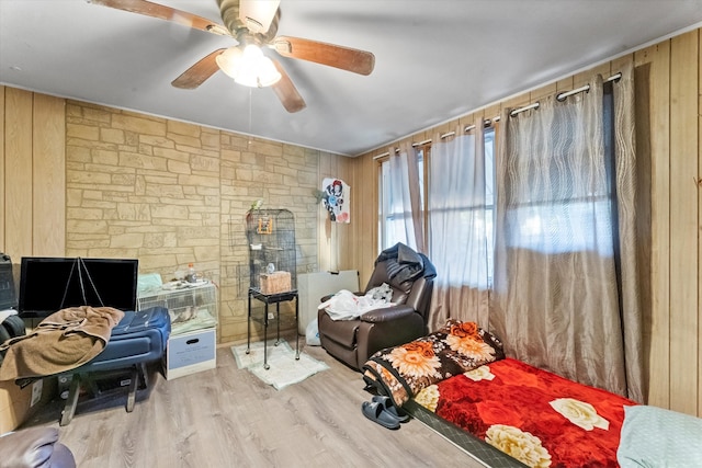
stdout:
[[67,255],[137,258],[163,281],[193,262],[218,285],[219,343],[246,338],[256,199],[293,212],[297,273],[317,270],[313,190],[335,155],[76,101],[66,117]]

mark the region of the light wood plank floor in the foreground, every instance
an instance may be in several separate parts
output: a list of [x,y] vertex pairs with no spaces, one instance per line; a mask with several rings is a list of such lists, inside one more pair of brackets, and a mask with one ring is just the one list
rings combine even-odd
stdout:
[[24,426],[59,427],[80,468],[483,466],[417,420],[390,431],[365,419],[361,374],[318,346],[304,351],[330,368],[281,391],[223,346],[216,369],[154,375],[132,413],[116,391],[83,400],[67,426],[58,399]]

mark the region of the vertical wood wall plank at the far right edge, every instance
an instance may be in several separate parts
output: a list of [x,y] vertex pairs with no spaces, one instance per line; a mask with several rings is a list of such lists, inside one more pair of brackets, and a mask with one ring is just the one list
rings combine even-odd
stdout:
[[[670,409],[697,414],[698,31],[671,39],[670,53]],[[694,353],[691,351],[694,350]]]

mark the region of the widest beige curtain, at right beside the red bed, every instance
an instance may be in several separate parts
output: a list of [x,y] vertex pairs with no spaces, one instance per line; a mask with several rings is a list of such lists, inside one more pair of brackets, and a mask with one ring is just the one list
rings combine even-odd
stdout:
[[631,65],[612,85],[501,116],[490,326],[510,356],[643,401]]

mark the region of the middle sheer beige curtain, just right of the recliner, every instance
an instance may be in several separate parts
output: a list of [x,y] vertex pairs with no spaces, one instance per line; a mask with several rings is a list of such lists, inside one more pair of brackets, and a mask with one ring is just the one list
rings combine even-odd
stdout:
[[488,327],[488,214],[483,122],[471,134],[433,136],[429,158],[430,259],[437,267],[429,330],[446,319]]

